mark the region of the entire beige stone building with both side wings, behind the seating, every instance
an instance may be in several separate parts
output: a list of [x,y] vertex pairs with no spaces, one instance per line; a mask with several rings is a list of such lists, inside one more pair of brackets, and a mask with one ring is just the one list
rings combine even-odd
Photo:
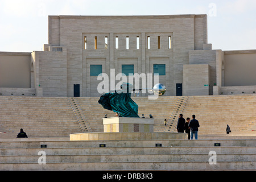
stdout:
[[[256,50],[213,50],[207,38],[207,15],[49,16],[44,51],[0,52],[0,94],[98,97],[111,70],[159,73],[166,96],[254,94]],[[17,68],[23,83],[8,76]]]

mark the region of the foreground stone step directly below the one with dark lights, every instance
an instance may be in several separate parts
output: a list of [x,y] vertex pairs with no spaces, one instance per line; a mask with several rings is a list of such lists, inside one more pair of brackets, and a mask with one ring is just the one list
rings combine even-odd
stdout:
[[147,155],[147,154],[255,154],[256,147],[76,147],[76,148],[0,148],[0,155],[38,155],[39,151],[47,155]]

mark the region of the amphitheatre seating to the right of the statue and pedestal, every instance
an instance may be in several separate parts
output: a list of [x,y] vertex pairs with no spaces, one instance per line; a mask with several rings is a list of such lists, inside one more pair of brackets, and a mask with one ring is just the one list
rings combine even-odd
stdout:
[[157,132],[176,132],[177,119],[182,113],[185,119],[196,115],[200,135],[225,134],[229,125],[232,136],[256,136],[255,95],[159,97],[158,100],[134,97],[133,100],[139,105],[140,116],[154,116]]

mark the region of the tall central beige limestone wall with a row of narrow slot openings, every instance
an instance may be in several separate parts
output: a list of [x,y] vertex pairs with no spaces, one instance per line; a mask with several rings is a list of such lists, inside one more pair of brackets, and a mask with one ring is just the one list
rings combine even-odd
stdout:
[[[67,96],[73,96],[73,84],[80,84],[80,96],[89,96],[88,90],[97,90],[95,79],[87,76],[89,59],[95,59],[93,64],[101,64],[101,59],[105,59],[106,67],[102,67],[107,74],[111,68],[119,73],[124,59],[126,64],[134,64],[137,60],[134,72],[136,69],[139,74],[152,73],[152,64],[164,60],[166,76],[160,81],[167,87],[166,96],[175,96],[176,83],[183,82],[183,64],[188,64],[188,51],[195,49],[195,45],[200,49],[207,43],[206,15],[49,16],[50,28],[49,44],[60,40],[59,46],[67,46]],[[86,50],[84,36],[88,41]],[[94,49],[95,36],[97,49]],[[105,36],[108,37],[108,49],[105,49]],[[115,49],[116,36],[119,38],[118,49]],[[129,49],[126,49],[127,36]],[[137,36],[139,49],[135,45]],[[147,36],[150,36],[150,49],[147,48]],[[168,36],[172,38],[171,49]]]

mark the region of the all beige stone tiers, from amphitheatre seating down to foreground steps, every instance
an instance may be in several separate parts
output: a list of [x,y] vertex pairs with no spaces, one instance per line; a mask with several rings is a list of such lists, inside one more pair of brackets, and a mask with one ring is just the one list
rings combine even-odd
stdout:
[[[132,98],[140,117],[153,115],[155,132],[176,132],[177,115],[195,114],[199,140],[70,141],[69,134],[103,132],[102,118],[115,113],[96,97],[1,96],[0,170],[256,169],[255,95]],[[20,128],[29,138],[15,138]],[[209,163],[212,151],[217,164]]]

